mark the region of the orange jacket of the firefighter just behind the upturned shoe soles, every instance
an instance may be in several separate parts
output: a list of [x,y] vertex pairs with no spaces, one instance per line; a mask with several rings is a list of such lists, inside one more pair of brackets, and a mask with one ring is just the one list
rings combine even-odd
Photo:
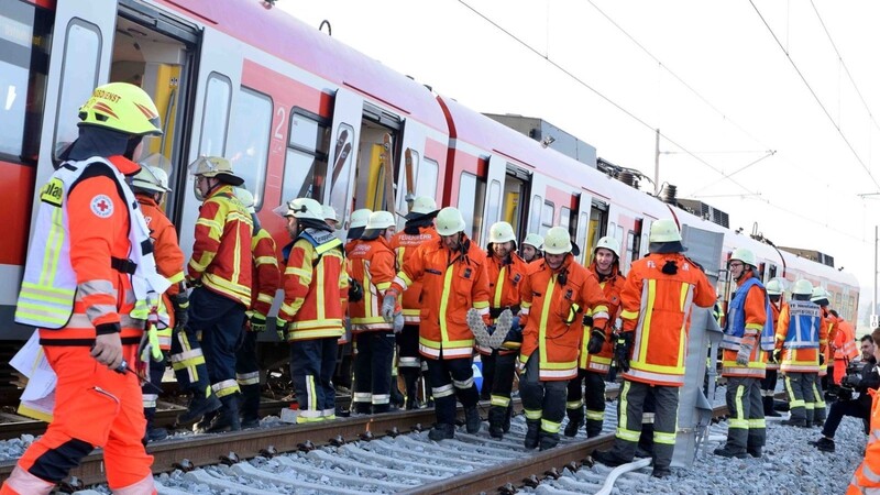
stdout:
[[[491,252],[486,253],[486,271],[488,273],[490,316],[501,314],[503,309],[510,308],[514,316],[522,301],[520,286],[526,278],[528,265],[516,253],[510,253],[509,263],[502,264]],[[516,352],[520,342],[504,342],[498,349],[502,354]],[[476,345],[476,350],[484,355],[492,354],[492,348]]]

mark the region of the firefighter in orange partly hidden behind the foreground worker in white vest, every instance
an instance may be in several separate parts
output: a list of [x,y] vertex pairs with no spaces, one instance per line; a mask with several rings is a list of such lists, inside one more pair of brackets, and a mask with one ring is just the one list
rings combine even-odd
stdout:
[[[186,324],[189,297],[186,294],[186,284],[184,283],[184,263],[186,258],[180,245],[177,243],[177,230],[175,230],[174,224],[160,207],[165,194],[172,190],[168,188],[168,174],[157,166],[147,165],[145,162],[141,162],[141,172],[131,178],[130,185],[134,197],[138,198],[138,204],[141,206],[146,227],[150,229],[156,270],[170,284],[168,290],[165,290],[162,296],[163,305],[161,306],[161,310],[169,316],[168,324],[162,329],[147,329],[147,331],[155,332],[154,343],[158,344],[162,352],[160,358],[148,359],[150,382],[161,386],[162,376],[165,374],[165,367],[167,366],[165,354],[172,349],[172,329]],[[146,418],[145,439],[147,442],[163,440],[168,436],[168,431],[165,428],[153,426],[158,395],[155,393],[155,388],[146,386],[142,387],[141,392],[144,397],[144,417]]]

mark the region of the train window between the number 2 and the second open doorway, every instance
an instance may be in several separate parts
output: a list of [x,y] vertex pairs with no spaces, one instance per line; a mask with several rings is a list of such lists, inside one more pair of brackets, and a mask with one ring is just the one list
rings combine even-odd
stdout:
[[323,200],[329,146],[330,127],[327,122],[298,111],[293,112],[282,183],[284,200],[302,197]]

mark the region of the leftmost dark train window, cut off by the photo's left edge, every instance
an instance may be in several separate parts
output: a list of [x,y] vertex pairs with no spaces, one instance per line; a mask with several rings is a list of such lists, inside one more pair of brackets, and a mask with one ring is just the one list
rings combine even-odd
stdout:
[[36,163],[52,16],[26,2],[2,2],[0,20],[0,154]]

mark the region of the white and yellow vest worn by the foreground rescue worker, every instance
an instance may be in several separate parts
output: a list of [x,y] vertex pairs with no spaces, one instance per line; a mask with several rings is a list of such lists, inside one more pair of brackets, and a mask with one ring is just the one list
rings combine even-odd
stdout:
[[[40,209],[15,308],[16,322],[44,329],[61,329],[69,321],[77,283],[76,273],[70,264],[67,194],[70,186],[89,166],[99,163],[112,170],[118,191],[129,208],[131,257],[120,262],[127,262],[129,268],[134,268],[133,273],[129,273],[130,271],[127,273],[131,277],[132,290],[138,300],[135,309],[155,309],[161,295],[170,285],[156,272],[150,229],[138,207],[134,194],[117,167],[100,157],[65,162],[52,174],[40,191]],[[139,315],[132,311],[132,317],[145,319],[146,314]],[[167,316],[164,317],[164,323],[168,323]]]

